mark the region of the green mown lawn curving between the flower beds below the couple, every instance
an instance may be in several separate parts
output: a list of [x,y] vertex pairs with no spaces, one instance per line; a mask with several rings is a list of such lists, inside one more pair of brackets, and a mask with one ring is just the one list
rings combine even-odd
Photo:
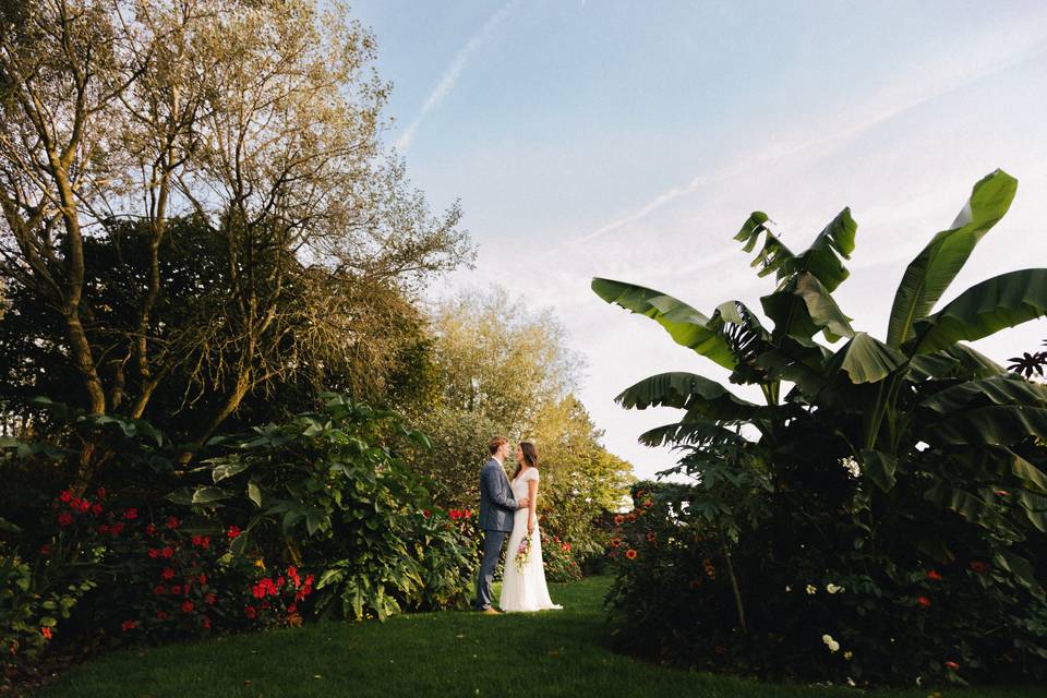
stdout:
[[[398,616],[313,624],[191,645],[113,652],[72,670],[48,698],[389,696],[682,696],[926,698],[929,690],[779,686],[664,669],[611,652],[601,601],[609,580],[551,585],[564,611]],[[1028,690],[953,690],[999,698]]]

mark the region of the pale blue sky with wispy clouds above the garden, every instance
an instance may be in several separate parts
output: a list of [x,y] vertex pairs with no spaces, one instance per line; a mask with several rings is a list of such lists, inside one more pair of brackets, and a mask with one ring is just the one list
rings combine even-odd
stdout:
[[[707,314],[758,308],[773,281],[732,240],[749,213],[802,251],[851,206],[852,275],[834,296],[883,338],[906,264],[996,168],[1018,196],[942,302],[1047,266],[1042,1],[358,0],[351,13],[393,83],[387,143],[434,209],[461,201],[477,245],[476,267],[432,291],[500,284],[552,308],[604,445],[640,477],[674,464],[636,443],[674,414],[614,396],[663,371],[726,373],[605,304],[593,276]],[[1004,362],[1044,339],[1042,318],[975,346]]]

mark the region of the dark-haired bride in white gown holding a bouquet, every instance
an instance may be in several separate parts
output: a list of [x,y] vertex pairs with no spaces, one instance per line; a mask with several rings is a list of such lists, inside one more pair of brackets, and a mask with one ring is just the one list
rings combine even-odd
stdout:
[[[544,611],[562,609],[553,603],[545,586],[545,568],[542,565],[542,534],[534,513],[538,502],[538,450],[534,444],[522,442],[516,447],[516,472],[513,474],[513,496],[527,497],[528,506],[517,509],[513,533],[505,551],[505,575],[502,579],[503,611]],[[526,562],[518,559],[520,543],[530,539]],[[522,564],[520,564],[522,562]]]

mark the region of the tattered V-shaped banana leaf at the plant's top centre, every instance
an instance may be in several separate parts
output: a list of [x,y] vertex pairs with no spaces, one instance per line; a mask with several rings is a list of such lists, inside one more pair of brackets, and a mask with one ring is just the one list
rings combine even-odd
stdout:
[[822,286],[832,292],[850,275],[840,257],[851,258],[854,252],[854,234],[858,229],[851,217],[851,209],[844,208],[826,228],[818,233],[811,245],[802,254],[793,254],[781,239],[767,227],[769,218],[761,210],[753,212],[734,237],[745,243],[744,252],[751,252],[763,237],[763,246],[753,260],[751,266],[760,266],[761,277],[774,274],[779,280],[795,274],[809,272]]

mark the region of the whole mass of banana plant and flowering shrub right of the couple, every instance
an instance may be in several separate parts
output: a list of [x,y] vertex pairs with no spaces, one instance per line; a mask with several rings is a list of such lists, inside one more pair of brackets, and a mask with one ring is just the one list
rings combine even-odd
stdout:
[[[1001,171],[975,185],[906,270],[886,342],[853,332],[830,296],[854,246],[849,212],[798,255],[765,214],[746,222],[738,239],[751,251],[766,234],[755,265],[778,279],[762,299],[773,329],[737,301],[688,322],[711,333],[695,351],[767,404],[690,374],[618,396],[686,410],[641,438],[679,447],[671,472],[694,481],[652,488],[651,508],[619,520],[611,605],[625,646],[834,682],[1047,675],[1047,389],[961,344],[1043,315],[1047,270],[988,279],[932,312],[1015,185]],[[645,312],[631,288],[593,282]],[[820,332],[847,341],[820,345]]]

